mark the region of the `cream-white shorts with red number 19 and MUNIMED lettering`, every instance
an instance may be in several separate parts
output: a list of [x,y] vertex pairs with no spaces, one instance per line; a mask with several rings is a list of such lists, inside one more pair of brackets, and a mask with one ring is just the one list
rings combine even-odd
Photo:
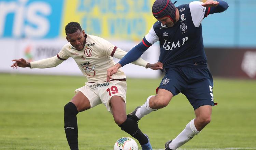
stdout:
[[85,86],[76,89],[82,92],[90,102],[91,108],[103,103],[112,114],[110,99],[112,96],[121,96],[126,103],[126,81],[114,80],[111,82],[86,82]]

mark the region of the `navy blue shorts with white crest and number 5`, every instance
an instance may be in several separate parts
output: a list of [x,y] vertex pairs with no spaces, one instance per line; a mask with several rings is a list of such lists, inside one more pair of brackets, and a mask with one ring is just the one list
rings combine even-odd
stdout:
[[159,88],[170,91],[173,96],[184,94],[194,109],[214,106],[213,79],[207,66],[168,68]]

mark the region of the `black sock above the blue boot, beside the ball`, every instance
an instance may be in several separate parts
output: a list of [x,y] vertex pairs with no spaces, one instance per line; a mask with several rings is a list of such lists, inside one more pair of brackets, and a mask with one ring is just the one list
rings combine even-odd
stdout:
[[120,124],[119,126],[123,131],[136,138],[139,141],[140,145],[146,144],[148,142],[147,137],[140,131],[137,122],[135,122],[131,118],[127,117],[125,122]]

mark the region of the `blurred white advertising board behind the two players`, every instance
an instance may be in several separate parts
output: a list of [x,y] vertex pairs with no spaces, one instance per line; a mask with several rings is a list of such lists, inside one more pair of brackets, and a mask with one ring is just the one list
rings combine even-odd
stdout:
[[[123,42],[123,41],[110,41],[115,46],[129,51],[132,47],[136,46],[139,42]],[[61,47],[67,43],[66,39],[47,39],[47,40],[26,40],[26,39],[1,39],[0,45],[2,57],[0,59],[0,72],[5,73],[26,73],[26,74],[51,74],[51,75],[82,75],[77,67],[77,64],[72,58],[67,59],[60,65],[54,68],[47,69],[30,69],[18,68],[12,69],[10,66],[13,62],[12,59],[24,58],[27,61],[36,61],[53,57],[58,54]],[[158,44],[152,45],[141,56],[144,60],[155,63],[159,57]],[[115,59],[118,62],[118,59]],[[145,69],[142,66],[134,64],[127,64],[122,67],[127,77],[133,78],[157,78],[160,76],[160,71],[153,71]]]

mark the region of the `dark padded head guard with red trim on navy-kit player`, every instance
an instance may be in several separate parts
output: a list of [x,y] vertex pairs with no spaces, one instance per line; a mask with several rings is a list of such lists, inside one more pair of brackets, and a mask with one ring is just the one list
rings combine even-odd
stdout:
[[176,22],[176,7],[170,0],[156,0],[152,6],[152,13],[156,19],[169,17]]

